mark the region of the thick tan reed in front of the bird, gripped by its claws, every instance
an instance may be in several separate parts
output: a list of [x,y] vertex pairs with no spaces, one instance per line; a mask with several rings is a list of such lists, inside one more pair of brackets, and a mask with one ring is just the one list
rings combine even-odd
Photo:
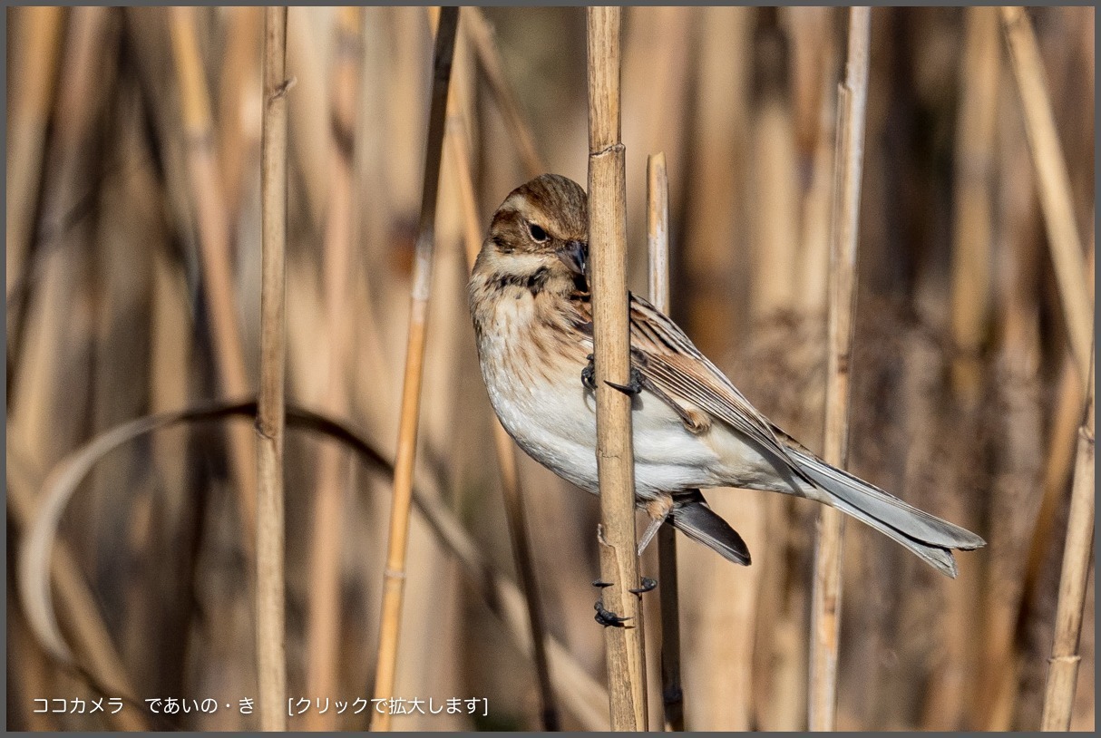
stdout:
[[606,627],[612,730],[646,729],[646,661],[634,530],[631,398],[609,382],[631,382],[626,291],[625,150],[620,141],[620,8],[588,9],[589,253],[597,371],[597,471],[603,606],[628,618]]

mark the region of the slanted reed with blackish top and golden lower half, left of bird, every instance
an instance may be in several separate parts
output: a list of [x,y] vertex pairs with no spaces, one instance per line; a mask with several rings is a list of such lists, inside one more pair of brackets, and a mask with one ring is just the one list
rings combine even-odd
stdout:
[[[379,654],[374,675],[374,697],[389,700],[394,692],[397,671],[397,639],[401,632],[402,599],[405,593],[405,559],[408,543],[410,503],[413,496],[413,466],[416,458],[417,421],[421,411],[421,384],[424,378],[424,350],[428,319],[428,296],[435,252],[436,202],[439,194],[439,168],[444,147],[447,91],[451,78],[451,58],[459,22],[458,8],[443,8],[433,54],[432,110],[424,167],[421,222],[417,228],[416,256],[413,266],[413,294],[410,306],[405,378],[402,386],[401,417],[397,429],[397,454],[394,462],[394,495],[390,509],[390,535],[386,569],[383,572],[382,614],[379,627]],[[388,711],[371,716],[372,730],[389,730]]]

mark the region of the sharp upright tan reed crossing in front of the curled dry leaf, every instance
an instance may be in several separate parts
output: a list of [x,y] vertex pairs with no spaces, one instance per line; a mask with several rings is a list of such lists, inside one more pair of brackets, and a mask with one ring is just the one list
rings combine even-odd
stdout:
[[286,8],[264,10],[260,397],[257,408],[257,675],[261,730],[285,730],[283,430],[286,365]]

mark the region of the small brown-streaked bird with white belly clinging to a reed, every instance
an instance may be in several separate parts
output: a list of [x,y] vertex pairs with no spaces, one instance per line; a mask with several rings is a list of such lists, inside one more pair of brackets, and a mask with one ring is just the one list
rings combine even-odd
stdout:
[[[493,214],[470,277],[470,312],[490,401],[528,455],[598,494],[592,311],[586,279],[588,203],[566,177],[542,175]],[[635,496],[651,525],[668,521],[727,559],[750,563],[742,538],[701,488],[797,495],[851,515],[949,576],[951,550],[985,542],[816,456],[761,415],[676,323],[631,295]]]

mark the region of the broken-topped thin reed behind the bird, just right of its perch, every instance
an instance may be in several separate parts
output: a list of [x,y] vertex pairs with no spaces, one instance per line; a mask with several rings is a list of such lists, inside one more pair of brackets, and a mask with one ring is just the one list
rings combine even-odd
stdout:
[[[669,312],[669,177],[665,153],[646,159],[646,245],[650,252],[650,301]],[[685,729],[680,685],[680,590],[677,581],[677,537],[673,526],[657,530],[657,581],[662,599],[662,705],[665,729]]]

